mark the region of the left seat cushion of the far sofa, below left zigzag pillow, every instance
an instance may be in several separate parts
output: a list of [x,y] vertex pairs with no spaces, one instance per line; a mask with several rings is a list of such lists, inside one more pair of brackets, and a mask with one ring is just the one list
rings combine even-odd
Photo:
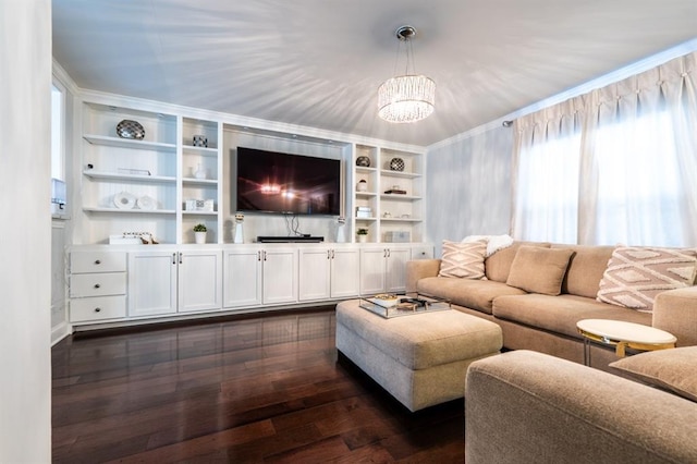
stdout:
[[451,303],[491,314],[493,298],[501,295],[524,295],[525,292],[491,280],[427,277],[419,279],[416,290],[426,295],[448,298]]

